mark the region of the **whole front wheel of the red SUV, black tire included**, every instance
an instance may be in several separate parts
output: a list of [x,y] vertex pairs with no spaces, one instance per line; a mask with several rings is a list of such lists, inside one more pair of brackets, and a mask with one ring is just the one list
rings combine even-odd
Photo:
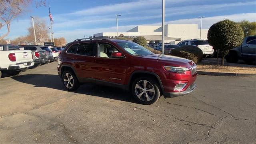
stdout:
[[132,94],[141,104],[154,104],[160,98],[160,86],[153,78],[140,77],[132,83]]

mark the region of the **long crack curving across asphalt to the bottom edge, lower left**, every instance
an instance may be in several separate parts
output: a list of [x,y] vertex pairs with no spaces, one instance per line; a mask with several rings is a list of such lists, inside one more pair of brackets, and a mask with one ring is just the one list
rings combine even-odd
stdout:
[[71,140],[71,142],[72,142],[72,143],[75,143],[75,144],[78,144],[78,141],[73,138],[73,136],[70,134],[70,132],[68,131],[68,129],[66,128],[66,126],[65,126],[62,122],[60,122],[60,121],[58,121],[58,120],[52,120],[52,119],[50,119],[50,118],[38,116],[38,115],[35,115],[35,114],[32,114],[32,113],[28,113],[28,112],[22,112],[22,114],[25,114],[25,115],[28,115],[28,116],[35,116],[35,117],[40,118],[40,119],[42,119],[42,120],[43,120],[43,119],[47,119],[47,120],[50,120],[50,121],[53,121],[53,122],[57,122],[60,126],[63,126],[63,128],[64,128],[64,134],[65,134],[66,136],[68,136],[68,138]]

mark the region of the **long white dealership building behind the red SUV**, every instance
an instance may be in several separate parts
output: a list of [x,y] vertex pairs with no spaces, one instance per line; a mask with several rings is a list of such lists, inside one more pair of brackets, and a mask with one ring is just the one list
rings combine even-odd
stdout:
[[[202,29],[201,38],[207,38],[208,29]],[[177,44],[182,40],[200,38],[200,29],[198,24],[166,24],[164,27],[165,42]],[[147,42],[162,42],[162,26],[136,26],[126,32],[100,32],[94,34],[93,37],[104,37],[115,39],[119,37],[125,37],[129,40],[133,40],[138,36],[146,38]]]

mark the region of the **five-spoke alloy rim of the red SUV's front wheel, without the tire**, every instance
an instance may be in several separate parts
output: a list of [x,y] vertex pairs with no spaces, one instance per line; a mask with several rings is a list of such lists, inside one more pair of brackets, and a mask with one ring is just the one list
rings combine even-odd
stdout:
[[135,94],[140,100],[148,102],[154,98],[155,89],[149,81],[140,80],[135,85]]

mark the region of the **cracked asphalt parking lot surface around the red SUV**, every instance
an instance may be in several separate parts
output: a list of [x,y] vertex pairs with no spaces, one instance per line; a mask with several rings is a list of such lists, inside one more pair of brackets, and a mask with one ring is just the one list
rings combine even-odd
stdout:
[[0,79],[0,143],[255,144],[255,77],[198,75],[193,93],[146,106],[112,87],[68,92],[56,66]]

